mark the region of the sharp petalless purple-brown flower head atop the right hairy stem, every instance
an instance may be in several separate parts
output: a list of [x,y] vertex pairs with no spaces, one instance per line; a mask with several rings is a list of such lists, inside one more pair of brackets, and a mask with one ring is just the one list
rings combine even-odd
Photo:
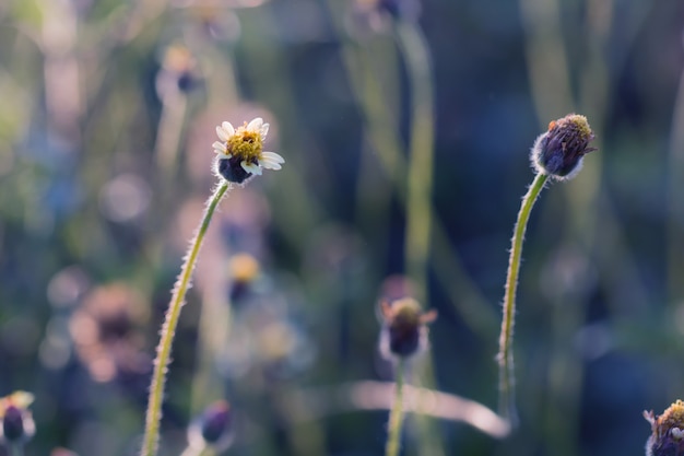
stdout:
[[549,131],[534,141],[531,152],[533,166],[539,173],[556,179],[569,179],[581,169],[582,157],[595,151],[589,143],[594,135],[585,116],[568,114],[552,120]]

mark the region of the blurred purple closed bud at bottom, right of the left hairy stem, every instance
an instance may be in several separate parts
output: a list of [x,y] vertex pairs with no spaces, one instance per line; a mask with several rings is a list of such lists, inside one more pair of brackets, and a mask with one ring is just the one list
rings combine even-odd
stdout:
[[188,428],[188,443],[192,448],[208,446],[222,452],[233,441],[233,416],[225,400],[216,401],[192,421]]

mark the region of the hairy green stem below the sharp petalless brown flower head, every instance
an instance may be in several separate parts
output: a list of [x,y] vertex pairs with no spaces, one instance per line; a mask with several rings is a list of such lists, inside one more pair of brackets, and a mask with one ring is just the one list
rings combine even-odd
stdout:
[[524,230],[530,219],[530,212],[534,206],[534,201],[544,188],[544,184],[549,179],[549,175],[539,173],[534,177],[527,195],[522,198],[520,212],[511,239],[510,257],[508,259],[508,274],[506,277],[506,293],[504,295],[504,317],[502,321],[502,334],[499,336],[499,352],[497,355],[499,364],[499,413],[506,418],[511,426],[516,426],[518,422],[518,412],[516,410],[515,394],[515,369],[512,354],[512,334],[516,317],[516,290],[518,288],[518,273],[520,271],[520,258],[522,254],[522,241],[524,239]]

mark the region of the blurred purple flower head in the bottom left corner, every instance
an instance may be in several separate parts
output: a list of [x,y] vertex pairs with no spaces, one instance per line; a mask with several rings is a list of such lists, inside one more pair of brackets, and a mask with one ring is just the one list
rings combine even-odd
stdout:
[[33,437],[36,425],[28,406],[33,395],[26,391],[14,391],[0,398],[0,439],[8,445],[23,444]]

